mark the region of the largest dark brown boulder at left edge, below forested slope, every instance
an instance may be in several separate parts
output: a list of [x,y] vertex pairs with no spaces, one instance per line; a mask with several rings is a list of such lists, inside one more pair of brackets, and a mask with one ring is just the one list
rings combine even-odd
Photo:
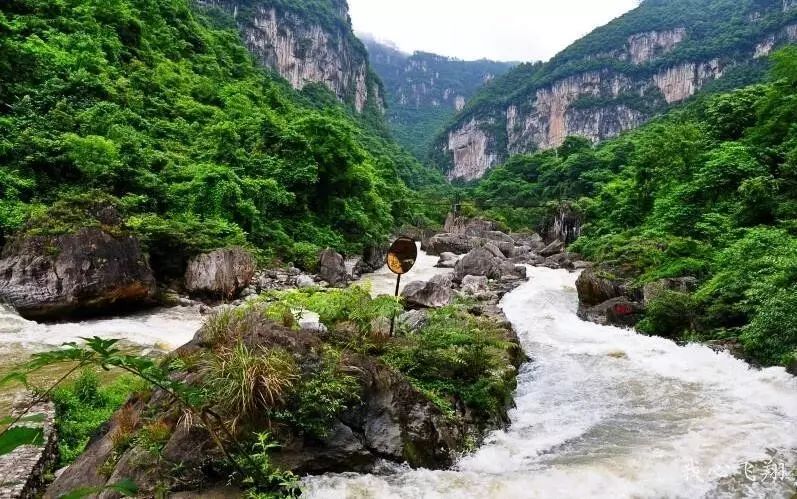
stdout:
[[0,260],[0,302],[35,320],[151,305],[155,278],[137,239],[84,228],[56,237],[21,236]]

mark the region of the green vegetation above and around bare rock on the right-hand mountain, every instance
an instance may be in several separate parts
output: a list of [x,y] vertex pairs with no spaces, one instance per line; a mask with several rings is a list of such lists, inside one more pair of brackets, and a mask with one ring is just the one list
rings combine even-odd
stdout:
[[[786,9],[780,0],[644,0],[623,16],[577,40],[545,63],[526,63],[484,85],[465,109],[454,117],[434,141],[447,141],[447,131],[475,117],[490,120],[498,130],[506,128],[506,109],[512,104],[527,109],[538,90],[564,78],[604,72],[631,81],[649,81],[660,71],[684,63],[716,60],[727,74],[708,82],[704,93],[728,91],[756,83],[768,68],[767,59],[753,59],[757,44],[774,37],[778,44],[788,38],[785,29],[797,21],[797,10]],[[684,29],[685,38],[671,51],[658,54],[651,62],[633,64],[627,58],[629,38],[651,31]],[[625,55],[626,57],[621,57]],[[650,117],[667,109],[658,92],[622,94],[617,99],[582,98],[575,108],[600,108],[611,100]],[[491,133],[494,149],[507,150],[505,131]],[[451,158],[440,147],[429,150],[432,161],[446,169]]]

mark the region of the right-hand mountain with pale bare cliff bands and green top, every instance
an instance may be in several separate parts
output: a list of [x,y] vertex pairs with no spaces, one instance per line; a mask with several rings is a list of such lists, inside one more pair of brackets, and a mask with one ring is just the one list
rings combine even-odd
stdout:
[[766,58],[797,40],[794,0],[645,0],[545,64],[522,64],[481,89],[440,135],[449,179],[480,178],[517,153],[636,128],[699,90],[760,80]]

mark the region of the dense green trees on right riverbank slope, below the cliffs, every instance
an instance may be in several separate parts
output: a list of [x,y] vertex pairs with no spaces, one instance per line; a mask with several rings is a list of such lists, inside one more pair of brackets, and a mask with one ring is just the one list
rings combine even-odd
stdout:
[[567,206],[585,220],[572,250],[638,284],[693,276],[693,295],[648,305],[640,330],[738,337],[751,360],[797,351],[797,49],[773,56],[770,83],[707,96],[593,147],[521,155],[472,187],[513,228]]

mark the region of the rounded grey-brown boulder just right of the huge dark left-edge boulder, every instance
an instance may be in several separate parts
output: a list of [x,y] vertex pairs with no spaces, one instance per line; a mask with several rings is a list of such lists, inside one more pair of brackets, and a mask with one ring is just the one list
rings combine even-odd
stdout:
[[233,246],[195,256],[185,271],[185,288],[191,295],[231,299],[249,285],[255,258]]

